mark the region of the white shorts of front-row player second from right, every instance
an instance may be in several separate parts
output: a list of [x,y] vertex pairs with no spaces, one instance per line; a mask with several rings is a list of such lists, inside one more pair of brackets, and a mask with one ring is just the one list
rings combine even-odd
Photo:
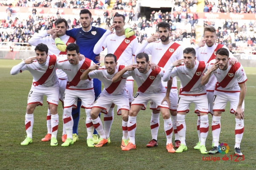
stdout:
[[195,113],[208,113],[209,105],[206,94],[200,96],[180,95],[177,104],[177,113],[189,113],[189,106],[191,103],[195,103]]

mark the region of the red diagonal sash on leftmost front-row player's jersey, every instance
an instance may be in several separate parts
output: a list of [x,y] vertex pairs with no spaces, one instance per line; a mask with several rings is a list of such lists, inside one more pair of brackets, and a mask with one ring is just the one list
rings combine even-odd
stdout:
[[54,67],[56,64],[57,57],[55,55],[49,55],[49,65],[43,76],[36,82],[33,82],[34,86],[42,85],[44,82],[49,78],[49,76],[52,74],[52,71],[55,71]]

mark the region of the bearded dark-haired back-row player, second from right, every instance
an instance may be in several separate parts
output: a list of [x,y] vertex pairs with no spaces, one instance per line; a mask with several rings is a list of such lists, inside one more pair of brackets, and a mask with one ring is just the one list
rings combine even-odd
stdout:
[[[183,58],[183,49],[181,45],[176,42],[169,40],[169,35],[171,34],[170,25],[166,22],[161,22],[157,24],[158,35],[153,35],[145,41],[138,50],[136,54],[144,52],[146,54],[152,55],[152,62],[156,63],[159,67],[163,67],[165,70],[175,62],[177,59]],[[156,41],[157,38],[161,40]],[[167,82],[162,80],[162,84],[167,88]],[[177,80],[173,77],[172,88],[167,89],[167,93],[170,93],[171,107],[170,112],[172,115],[172,125],[173,131],[175,133],[175,147],[180,146],[180,137],[177,134],[176,122],[177,122]],[[159,111],[154,110],[156,108],[155,103],[151,105],[152,117],[150,121],[152,140],[147,144],[147,147],[157,146],[157,132],[159,129]]]

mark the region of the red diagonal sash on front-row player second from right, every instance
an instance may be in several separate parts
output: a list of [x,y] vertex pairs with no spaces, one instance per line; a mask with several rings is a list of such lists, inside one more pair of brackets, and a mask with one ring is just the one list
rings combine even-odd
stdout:
[[187,85],[185,85],[182,89],[180,89],[181,92],[183,91],[190,91],[191,88],[195,85],[195,83],[200,79],[201,75],[204,74],[203,71],[205,69],[205,62],[204,61],[199,61],[198,68],[195,71],[194,76],[192,79],[189,81]]

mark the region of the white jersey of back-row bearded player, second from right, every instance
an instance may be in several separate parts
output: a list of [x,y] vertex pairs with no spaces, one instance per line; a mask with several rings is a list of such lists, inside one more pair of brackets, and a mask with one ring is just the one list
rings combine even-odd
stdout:
[[[161,40],[148,43],[145,41],[136,51],[136,55],[139,53],[146,53],[152,55],[152,62],[159,67],[163,67],[165,70],[175,62],[177,59],[183,58],[183,49],[181,45],[176,42],[170,42],[167,45],[162,44]],[[162,80],[163,85],[167,88],[167,82]],[[172,88],[177,88],[176,77],[173,78]]]

